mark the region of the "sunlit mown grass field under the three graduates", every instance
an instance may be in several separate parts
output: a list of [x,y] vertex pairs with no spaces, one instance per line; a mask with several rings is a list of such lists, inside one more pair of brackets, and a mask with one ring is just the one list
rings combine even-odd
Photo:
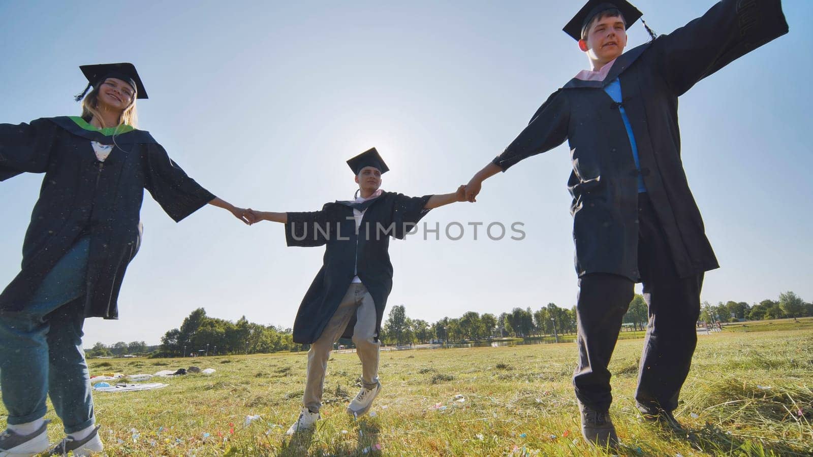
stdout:
[[[785,324],[699,337],[677,411],[689,427],[682,435],[638,420],[632,397],[642,340],[620,341],[611,364],[619,454],[813,455],[813,332],[809,323]],[[573,343],[385,351],[375,414],[355,421],[345,407],[359,389],[359,360],[336,354],[324,419],[293,439],[285,430],[298,416],[303,353],[89,366],[92,373],[217,370],[167,378],[159,390],[95,393],[108,455],[602,455],[580,437],[575,359]],[[56,442],[59,419],[49,418]]]

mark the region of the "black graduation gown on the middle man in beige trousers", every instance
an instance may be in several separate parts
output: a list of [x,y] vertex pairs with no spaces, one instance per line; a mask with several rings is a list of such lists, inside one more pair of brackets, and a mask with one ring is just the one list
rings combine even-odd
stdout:
[[[376,333],[380,333],[387,297],[393,289],[389,237],[403,239],[428,213],[424,206],[430,197],[383,192],[365,202],[367,211],[358,233],[350,202],[325,203],[322,211],[288,213],[288,246],[326,246],[322,268],[302,298],[293,322],[293,342],[311,344],[319,339],[347,293],[354,272],[376,303]],[[352,337],[354,325],[355,317],[342,337]]]

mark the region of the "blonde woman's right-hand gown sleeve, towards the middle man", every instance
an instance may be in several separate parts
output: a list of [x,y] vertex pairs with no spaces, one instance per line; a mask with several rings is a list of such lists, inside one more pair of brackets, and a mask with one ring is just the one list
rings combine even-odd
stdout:
[[145,155],[145,187],[176,222],[215,199],[215,195],[187,176],[158,143],[147,144]]

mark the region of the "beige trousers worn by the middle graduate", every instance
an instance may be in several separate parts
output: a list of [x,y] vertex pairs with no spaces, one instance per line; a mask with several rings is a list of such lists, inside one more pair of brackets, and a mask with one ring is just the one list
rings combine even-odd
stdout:
[[362,385],[372,389],[378,384],[378,354],[380,342],[376,341],[376,303],[367,287],[362,283],[350,284],[347,294],[341,299],[333,317],[328,321],[322,335],[311,345],[307,353],[307,382],[302,405],[311,411],[319,411],[322,407],[322,391],[324,390],[324,373],[328,369],[330,351],[333,343],[337,342],[344,332],[347,324],[356,316],[353,328],[353,343],[356,354],[361,359]]

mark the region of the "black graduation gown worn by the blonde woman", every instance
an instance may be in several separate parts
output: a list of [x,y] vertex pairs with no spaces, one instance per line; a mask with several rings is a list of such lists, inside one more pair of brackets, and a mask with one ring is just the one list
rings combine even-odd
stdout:
[[215,198],[146,131],[116,135],[101,165],[90,141],[114,144],[70,117],[0,124],[0,181],[45,173],[25,234],[22,270],[0,294],[0,311],[24,309],[77,237],[89,233],[85,317],[117,319],[121,281],[141,243],[144,189],[176,221]]

